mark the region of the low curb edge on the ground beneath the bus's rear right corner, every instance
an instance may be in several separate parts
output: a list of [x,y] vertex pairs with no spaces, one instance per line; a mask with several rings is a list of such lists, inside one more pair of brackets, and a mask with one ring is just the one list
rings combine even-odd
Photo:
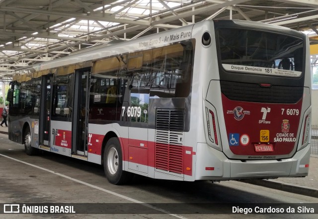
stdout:
[[306,186],[296,186],[290,183],[284,183],[277,180],[240,180],[240,182],[249,183],[257,186],[264,186],[271,189],[282,190],[285,192],[296,193],[304,196],[318,198],[318,190]]

